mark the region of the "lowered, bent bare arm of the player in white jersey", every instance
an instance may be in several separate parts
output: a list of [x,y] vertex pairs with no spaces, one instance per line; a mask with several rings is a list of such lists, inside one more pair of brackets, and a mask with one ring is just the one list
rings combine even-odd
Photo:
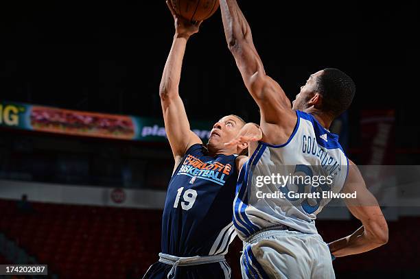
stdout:
[[353,234],[329,243],[329,249],[336,257],[366,252],[388,242],[388,225],[381,208],[366,189],[358,167],[351,161],[349,163],[349,176],[343,192],[356,193],[356,198],[346,201],[346,204],[363,226]]

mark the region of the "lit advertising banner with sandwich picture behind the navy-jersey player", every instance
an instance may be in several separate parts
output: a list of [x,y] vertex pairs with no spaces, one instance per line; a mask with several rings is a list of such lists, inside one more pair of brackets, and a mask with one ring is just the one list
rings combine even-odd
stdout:
[[[190,125],[191,130],[207,143],[213,123],[191,121]],[[0,101],[0,126],[73,136],[167,141],[163,119],[65,110],[9,101]]]

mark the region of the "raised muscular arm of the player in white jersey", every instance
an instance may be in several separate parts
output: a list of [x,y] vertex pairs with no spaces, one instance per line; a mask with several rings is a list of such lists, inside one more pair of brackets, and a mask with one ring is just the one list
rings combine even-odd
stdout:
[[[275,80],[264,71],[264,65],[255,49],[250,26],[236,0],[220,0],[226,42],[240,70],[246,88],[261,109],[261,128],[264,122],[282,124],[296,122],[290,100]],[[292,117],[290,117],[292,115]]]

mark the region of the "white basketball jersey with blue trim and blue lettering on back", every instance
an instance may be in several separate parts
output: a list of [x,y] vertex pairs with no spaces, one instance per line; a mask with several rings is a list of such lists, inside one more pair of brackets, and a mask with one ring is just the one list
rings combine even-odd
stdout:
[[297,110],[296,115],[287,143],[259,142],[241,169],[233,203],[241,239],[279,225],[317,233],[316,215],[345,183],[349,161],[338,136],[311,114]]

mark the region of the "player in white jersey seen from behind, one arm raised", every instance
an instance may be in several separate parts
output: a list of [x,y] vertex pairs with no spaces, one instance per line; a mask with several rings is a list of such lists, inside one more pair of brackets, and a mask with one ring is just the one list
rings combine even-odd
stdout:
[[[355,84],[338,69],[318,71],[292,106],[281,86],[266,75],[236,0],[220,0],[220,8],[229,49],[261,110],[263,133],[261,141],[249,146],[250,159],[242,167],[233,204],[233,223],[244,241],[242,276],[335,278],[331,258],[366,252],[388,241],[380,206],[345,156],[338,136],[328,130],[349,108]],[[248,127],[232,144],[253,141]],[[345,202],[362,227],[327,245],[315,219],[338,193],[356,193]]]

